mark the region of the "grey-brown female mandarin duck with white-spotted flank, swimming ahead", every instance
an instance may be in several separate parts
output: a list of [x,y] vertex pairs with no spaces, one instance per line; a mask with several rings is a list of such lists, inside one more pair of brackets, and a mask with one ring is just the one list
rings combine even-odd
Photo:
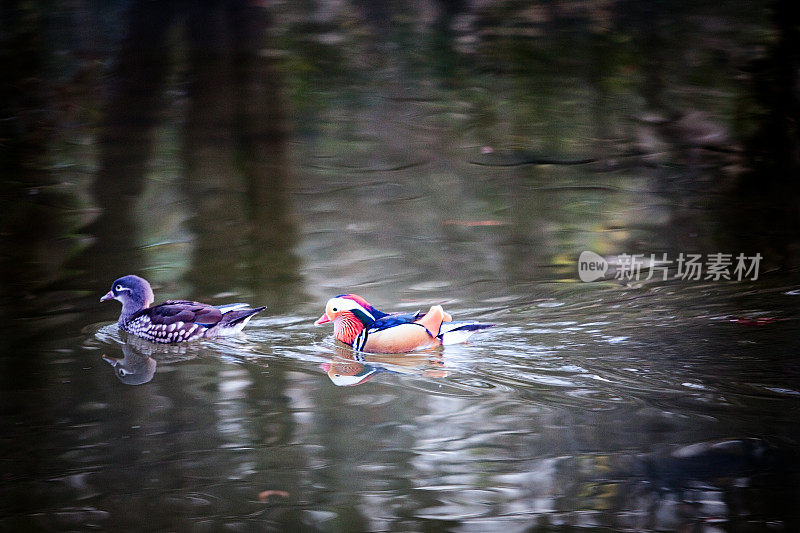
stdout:
[[168,300],[150,307],[153,289],[146,279],[123,276],[111,284],[111,290],[100,298],[122,302],[117,324],[131,335],[150,342],[175,343],[200,338],[233,335],[266,307],[251,308],[247,304],[213,306],[185,300]]

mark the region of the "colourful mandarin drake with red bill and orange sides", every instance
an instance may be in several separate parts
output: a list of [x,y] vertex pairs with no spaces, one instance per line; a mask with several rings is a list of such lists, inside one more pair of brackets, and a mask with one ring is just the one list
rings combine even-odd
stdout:
[[457,344],[480,329],[493,326],[478,322],[453,322],[441,305],[427,313],[389,314],[378,311],[355,294],[328,300],[325,313],[315,325],[333,322],[336,340],[357,351],[404,353],[434,346]]

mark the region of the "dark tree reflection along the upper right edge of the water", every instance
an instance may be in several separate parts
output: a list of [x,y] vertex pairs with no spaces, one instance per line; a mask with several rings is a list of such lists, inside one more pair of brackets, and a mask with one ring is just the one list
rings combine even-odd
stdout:
[[[747,171],[724,213],[728,236],[772,258],[775,266],[797,268],[800,225],[800,14],[794,2],[772,9],[776,37],[767,54],[747,68],[751,101],[744,118],[755,117],[745,139]],[[749,106],[748,106],[749,104]]]

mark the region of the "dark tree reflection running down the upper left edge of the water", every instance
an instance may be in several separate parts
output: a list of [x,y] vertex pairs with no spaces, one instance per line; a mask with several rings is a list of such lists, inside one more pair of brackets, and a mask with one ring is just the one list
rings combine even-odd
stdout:
[[[0,10],[0,321],[41,312],[36,293],[52,273],[42,267],[59,236],[51,212],[57,200],[43,154],[52,134],[53,109],[41,82],[46,17],[35,5],[9,3]],[[19,333],[15,327],[11,334]]]

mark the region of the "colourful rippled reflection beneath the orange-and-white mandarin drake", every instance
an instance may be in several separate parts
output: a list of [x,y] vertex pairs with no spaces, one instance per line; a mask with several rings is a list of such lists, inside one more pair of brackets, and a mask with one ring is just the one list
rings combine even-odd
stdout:
[[320,365],[331,381],[340,387],[361,385],[383,372],[443,378],[447,376],[443,367],[441,354],[366,355],[341,348],[336,349],[330,362]]

